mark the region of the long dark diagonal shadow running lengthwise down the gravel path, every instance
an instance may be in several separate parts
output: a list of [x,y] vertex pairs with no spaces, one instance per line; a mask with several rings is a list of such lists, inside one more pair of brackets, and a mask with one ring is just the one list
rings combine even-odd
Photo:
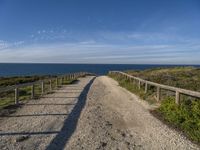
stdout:
[[65,120],[62,129],[56,135],[56,137],[50,142],[46,150],[64,149],[68,140],[70,139],[70,137],[73,135],[74,131],[76,130],[78,119],[86,103],[88,91],[94,80],[95,80],[95,77],[85,86],[72,112],[69,114],[68,118]]

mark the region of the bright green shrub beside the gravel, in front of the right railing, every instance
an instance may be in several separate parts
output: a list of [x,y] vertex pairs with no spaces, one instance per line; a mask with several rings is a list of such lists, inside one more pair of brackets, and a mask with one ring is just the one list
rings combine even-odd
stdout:
[[180,105],[175,99],[168,97],[162,101],[158,112],[171,124],[179,127],[192,140],[200,142],[200,101],[182,101]]

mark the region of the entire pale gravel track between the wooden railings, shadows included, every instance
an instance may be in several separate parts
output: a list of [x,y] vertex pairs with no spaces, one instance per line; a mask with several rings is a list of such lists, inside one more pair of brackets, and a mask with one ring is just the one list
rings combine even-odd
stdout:
[[199,149],[105,76],[82,78],[28,104],[1,120],[0,149]]

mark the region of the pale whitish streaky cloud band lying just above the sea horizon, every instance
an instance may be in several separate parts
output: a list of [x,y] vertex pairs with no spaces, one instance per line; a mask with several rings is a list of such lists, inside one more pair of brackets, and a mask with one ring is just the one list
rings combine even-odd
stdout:
[[[195,45],[197,46],[197,45]],[[115,45],[93,41],[29,45],[5,49],[1,62],[200,64],[191,45]],[[191,56],[193,59],[191,59]]]

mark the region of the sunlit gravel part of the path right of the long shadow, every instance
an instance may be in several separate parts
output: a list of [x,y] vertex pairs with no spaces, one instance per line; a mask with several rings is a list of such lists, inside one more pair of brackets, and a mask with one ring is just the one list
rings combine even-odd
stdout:
[[114,80],[98,77],[66,149],[199,149],[153,117],[148,109],[147,103]]

